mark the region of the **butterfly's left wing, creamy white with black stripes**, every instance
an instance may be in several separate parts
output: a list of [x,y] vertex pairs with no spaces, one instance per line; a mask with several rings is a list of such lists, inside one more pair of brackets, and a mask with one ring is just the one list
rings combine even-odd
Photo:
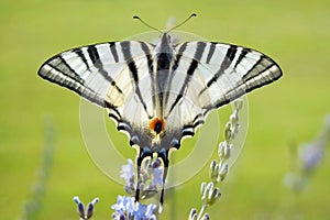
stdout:
[[133,41],[77,47],[46,61],[38,75],[107,108],[118,129],[130,132],[136,108],[143,108],[144,121],[153,109],[143,98],[148,87],[141,88],[150,85],[153,47]]

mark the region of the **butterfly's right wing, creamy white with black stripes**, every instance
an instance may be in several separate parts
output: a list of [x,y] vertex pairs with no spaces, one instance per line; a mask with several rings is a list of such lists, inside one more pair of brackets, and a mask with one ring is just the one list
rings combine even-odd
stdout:
[[[176,70],[169,90],[172,97],[167,112],[180,112],[183,135],[194,135],[210,110],[271,84],[282,76],[278,65],[268,56],[237,45],[188,42],[176,50]],[[177,113],[176,112],[176,113]]]

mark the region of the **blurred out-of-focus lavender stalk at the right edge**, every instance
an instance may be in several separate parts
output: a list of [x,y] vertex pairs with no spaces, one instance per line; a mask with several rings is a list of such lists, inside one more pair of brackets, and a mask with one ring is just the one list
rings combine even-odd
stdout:
[[308,182],[321,164],[330,141],[330,114],[324,118],[320,133],[309,143],[290,144],[290,167],[284,175],[283,184],[292,194],[286,194],[277,216],[289,219],[304,219],[299,199]]

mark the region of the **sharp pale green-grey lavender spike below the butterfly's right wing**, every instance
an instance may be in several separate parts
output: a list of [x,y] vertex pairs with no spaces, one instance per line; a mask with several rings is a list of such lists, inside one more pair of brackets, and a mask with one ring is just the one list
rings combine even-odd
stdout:
[[220,197],[221,193],[218,185],[224,180],[228,172],[228,160],[231,157],[233,147],[233,140],[237,138],[240,123],[239,112],[242,109],[243,101],[237,100],[234,102],[233,113],[230,116],[229,122],[224,127],[224,141],[219,144],[218,156],[219,161],[213,160],[210,164],[210,178],[208,183],[204,182],[200,185],[201,208],[199,211],[195,208],[189,213],[189,220],[208,220],[209,213],[206,213],[208,207],[212,206]]

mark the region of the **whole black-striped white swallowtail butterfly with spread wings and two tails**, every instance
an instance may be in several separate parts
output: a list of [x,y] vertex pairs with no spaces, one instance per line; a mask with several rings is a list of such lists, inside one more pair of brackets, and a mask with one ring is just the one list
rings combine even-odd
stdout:
[[162,32],[157,44],[118,41],[68,50],[38,69],[42,78],[108,110],[139,148],[138,178],[145,157],[156,154],[163,161],[161,205],[169,151],[193,136],[211,110],[282,76],[279,66],[257,51],[206,41],[174,44],[172,30]]

